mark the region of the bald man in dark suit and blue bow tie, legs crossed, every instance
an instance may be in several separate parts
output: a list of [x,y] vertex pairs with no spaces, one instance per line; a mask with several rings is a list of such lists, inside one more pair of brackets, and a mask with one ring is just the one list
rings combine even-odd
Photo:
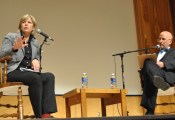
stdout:
[[157,62],[146,59],[141,71],[143,94],[141,106],[147,109],[145,115],[154,115],[158,89],[167,90],[175,83],[175,49],[170,48],[173,36],[168,31],[160,33],[157,39],[160,51]]

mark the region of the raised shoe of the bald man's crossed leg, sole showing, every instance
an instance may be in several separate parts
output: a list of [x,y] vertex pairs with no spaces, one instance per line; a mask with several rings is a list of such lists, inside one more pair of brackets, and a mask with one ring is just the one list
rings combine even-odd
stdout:
[[160,88],[164,91],[170,88],[170,85],[163,79],[163,77],[160,77],[160,76],[153,77],[153,84],[157,88]]

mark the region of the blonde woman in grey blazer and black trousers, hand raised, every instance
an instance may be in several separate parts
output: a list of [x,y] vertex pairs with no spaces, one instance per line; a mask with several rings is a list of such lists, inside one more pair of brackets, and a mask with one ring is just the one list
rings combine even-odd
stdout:
[[[8,81],[23,82],[29,86],[29,98],[36,118],[49,118],[57,112],[55,77],[40,73],[40,45],[33,33],[36,21],[24,15],[19,22],[19,33],[8,33],[2,43],[2,55],[12,56],[8,64]],[[26,69],[32,69],[33,72]]]

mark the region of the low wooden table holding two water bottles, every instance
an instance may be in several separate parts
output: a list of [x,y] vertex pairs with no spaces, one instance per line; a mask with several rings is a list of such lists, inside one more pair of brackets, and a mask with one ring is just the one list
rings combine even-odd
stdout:
[[123,116],[127,116],[126,89],[98,89],[98,88],[76,88],[63,95],[66,100],[66,117],[71,117],[70,107],[75,104],[81,105],[81,117],[87,117],[86,98],[100,98],[102,105],[102,116],[106,116],[106,106],[121,103]]

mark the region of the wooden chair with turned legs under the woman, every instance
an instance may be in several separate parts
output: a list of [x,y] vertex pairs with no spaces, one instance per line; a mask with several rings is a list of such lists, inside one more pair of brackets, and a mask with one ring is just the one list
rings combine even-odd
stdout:
[[[1,69],[0,69],[0,98],[8,94],[8,92],[15,92],[17,95],[17,105],[11,105],[11,104],[1,104],[0,107],[6,107],[6,108],[17,108],[17,113],[12,114],[2,114],[0,117],[6,118],[6,117],[17,117],[18,119],[24,119],[23,115],[23,100],[22,100],[22,89],[21,87],[24,85],[22,82],[7,82],[7,63],[11,60],[10,56],[5,56],[0,58],[1,63]],[[2,67],[4,66],[4,67]],[[17,87],[16,91],[11,90],[10,88]],[[10,91],[8,91],[10,89]],[[5,93],[5,91],[8,91]],[[9,93],[10,94],[10,93]],[[14,94],[13,94],[14,95]]]

